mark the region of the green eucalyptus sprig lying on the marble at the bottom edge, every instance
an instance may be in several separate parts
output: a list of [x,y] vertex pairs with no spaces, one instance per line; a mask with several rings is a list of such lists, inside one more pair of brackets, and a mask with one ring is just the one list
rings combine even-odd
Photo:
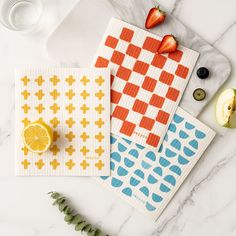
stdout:
[[60,193],[49,192],[48,194],[50,195],[51,198],[55,200],[53,202],[53,205],[58,206],[60,212],[64,213],[65,222],[67,222],[68,224],[75,225],[76,231],[86,232],[88,236],[108,236],[104,234],[100,229],[94,228],[84,219],[83,216],[74,213],[74,210],[68,204],[67,199],[61,196]]

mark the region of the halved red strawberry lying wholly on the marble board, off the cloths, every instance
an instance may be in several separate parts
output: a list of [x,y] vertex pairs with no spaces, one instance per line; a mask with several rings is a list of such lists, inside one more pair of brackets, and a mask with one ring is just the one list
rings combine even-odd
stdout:
[[145,22],[146,29],[151,29],[154,26],[161,24],[165,20],[165,17],[165,12],[162,11],[159,6],[151,8]]

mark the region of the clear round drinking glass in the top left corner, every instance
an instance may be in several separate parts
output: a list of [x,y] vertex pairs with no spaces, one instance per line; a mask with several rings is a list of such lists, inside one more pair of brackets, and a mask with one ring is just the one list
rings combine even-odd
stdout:
[[30,31],[41,15],[41,0],[0,0],[0,22],[10,30]]

